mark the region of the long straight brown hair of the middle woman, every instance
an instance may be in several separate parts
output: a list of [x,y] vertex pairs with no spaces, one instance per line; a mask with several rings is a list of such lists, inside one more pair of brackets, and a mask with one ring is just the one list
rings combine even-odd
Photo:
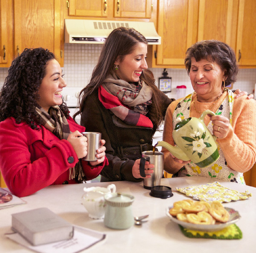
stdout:
[[[117,57],[122,61],[123,57],[127,54],[131,54],[134,50],[134,46],[140,42],[147,44],[145,37],[134,28],[119,27],[109,34],[103,45],[98,63],[93,69],[91,80],[79,94],[79,111],[74,114],[74,119],[83,111],[86,98],[92,94],[93,91],[98,90],[106,76],[114,71],[114,63]],[[155,131],[163,120],[160,92],[154,84],[155,80],[152,79],[151,74],[149,74],[147,70],[143,70],[140,79],[153,90],[152,104],[150,105],[151,109],[147,116],[153,122],[153,129]]]

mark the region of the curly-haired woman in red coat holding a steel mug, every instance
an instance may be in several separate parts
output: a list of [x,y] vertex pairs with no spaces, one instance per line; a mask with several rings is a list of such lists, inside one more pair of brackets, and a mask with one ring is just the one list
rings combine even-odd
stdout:
[[87,154],[85,128],[63,102],[63,76],[44,48],[26,48],[9,68],[0,93],[0,170],[16,196],[93,179],[108,165],[103,139],[97,161],[81,159]]

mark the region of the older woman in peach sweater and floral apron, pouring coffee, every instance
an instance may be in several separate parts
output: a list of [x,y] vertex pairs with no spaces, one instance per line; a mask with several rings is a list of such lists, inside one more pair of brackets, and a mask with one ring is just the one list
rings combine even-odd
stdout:
[[225,43],[204,40],[186,51],[185,65],[194,92],[169,105],[163,140],[175,145],[172,131],[178,114],[198,118],[209,109],[215,115],[207,115],[204,122],[218,138],[220,158],[209,167],[199,168],[193,162],[175,158],[163,148],[165,170],[176,173],[174,176],[206,176],[244,184],[243,172],[256,162],[256,103],[245,95],[234,99],[233,92],[225,88],[236,81],[235,53]]

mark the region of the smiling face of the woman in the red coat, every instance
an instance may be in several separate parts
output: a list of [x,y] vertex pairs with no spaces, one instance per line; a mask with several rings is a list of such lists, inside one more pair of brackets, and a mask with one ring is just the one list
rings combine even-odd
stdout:
[[47,112],[51,106],[61,105],[61,91],[62,88],[66,86],[61,66],[55,59],[49,60],[46,66],[45,77],[38,90],[38,94],[40,95],[40,98],[37,101],[38,105],[44,108]]

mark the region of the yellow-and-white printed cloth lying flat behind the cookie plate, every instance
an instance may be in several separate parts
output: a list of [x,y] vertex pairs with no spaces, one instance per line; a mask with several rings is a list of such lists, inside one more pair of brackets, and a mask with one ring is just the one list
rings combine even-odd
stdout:
[[240,199],[248,199],[250,196],[252,196],[252,193],[249,193],[248,191],[241,193],[237,190],[224,187],[219,182],[206,185],[190,186],[186,188],[177,187],[176,190],[180,193],[186,194],[186,196],[192,197],[193,199],[207,202],[215,200],[220,202],[230,202]]

